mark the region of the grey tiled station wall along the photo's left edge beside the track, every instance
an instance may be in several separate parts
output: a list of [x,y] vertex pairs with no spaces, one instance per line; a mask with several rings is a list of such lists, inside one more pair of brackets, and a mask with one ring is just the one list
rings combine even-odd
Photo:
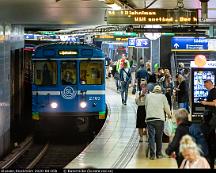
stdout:
[[11,51],[23,47],[23,26],[0,24],[0,158],[10,149]]

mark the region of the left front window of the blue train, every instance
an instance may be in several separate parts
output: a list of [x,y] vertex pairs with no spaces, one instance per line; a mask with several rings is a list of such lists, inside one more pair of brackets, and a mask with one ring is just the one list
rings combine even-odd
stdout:
[[55,61],[35,61],[33,68],[35,85],[56,85],[57,65]]

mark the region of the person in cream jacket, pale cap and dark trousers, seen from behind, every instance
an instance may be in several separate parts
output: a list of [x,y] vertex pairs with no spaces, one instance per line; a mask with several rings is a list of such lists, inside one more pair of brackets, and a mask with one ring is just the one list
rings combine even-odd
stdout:
[[[157,158],[162,158],[162,136],[164,130],[165,114],[171,118],[171,111],[167,98],[162,94],[162,89],[156,85],[152,93],[145,97],[146,108],[146,123],[148,129],[148,142],[150,148],[150,159],[154,160],[155,155]],[[155,153],[156,143],[156,153]]]

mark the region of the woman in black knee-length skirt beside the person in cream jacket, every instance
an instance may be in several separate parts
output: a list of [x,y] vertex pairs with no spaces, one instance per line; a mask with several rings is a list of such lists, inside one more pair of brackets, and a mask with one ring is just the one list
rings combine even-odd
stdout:
[[146,111],[145,111],[145,95],[147,94],[147,82],[142,81],[140,84],[141,91],[136,92],[135,102],[138,106],[137,108],[137,119],[136,119],[136,128],[138,128],[140,140],[143,142],[143,135],[146,134]]

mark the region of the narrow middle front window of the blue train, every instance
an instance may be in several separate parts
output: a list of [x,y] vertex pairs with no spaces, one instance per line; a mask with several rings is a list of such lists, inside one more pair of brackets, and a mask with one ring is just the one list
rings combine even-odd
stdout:
[[76,62],[66,61],[61,63],[61,81],[62,85],[76,84]]

